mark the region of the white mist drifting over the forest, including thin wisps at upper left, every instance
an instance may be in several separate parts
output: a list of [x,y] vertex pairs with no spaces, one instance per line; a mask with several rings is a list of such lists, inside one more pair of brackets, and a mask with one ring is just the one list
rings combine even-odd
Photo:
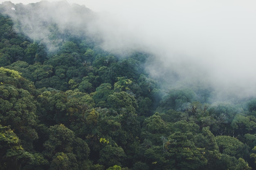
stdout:
[[256,96],[253,0],[112,0],[99,3],[97,12],[86,4],[74,11],[78,4],[40,2],[38,8],[25,6],[31,9],[29,18],[11,5],[6,13],[30,38],[43,39],[49,51],[57,47],[41,21],[52,20],[60,30],[72,27],[72,33],[99,38],[101,48],[117,55],[151,53],[146,70],[164,89],[207,86],[215,100]]

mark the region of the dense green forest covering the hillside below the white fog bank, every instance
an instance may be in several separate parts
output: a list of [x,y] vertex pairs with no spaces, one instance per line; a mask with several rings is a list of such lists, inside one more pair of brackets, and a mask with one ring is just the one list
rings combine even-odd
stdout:
[[0,170],[256,168],[255,97],[163,88],[145,69],[151,53],[106,51],[86,23],[42,18],[49,3],[0,4]]

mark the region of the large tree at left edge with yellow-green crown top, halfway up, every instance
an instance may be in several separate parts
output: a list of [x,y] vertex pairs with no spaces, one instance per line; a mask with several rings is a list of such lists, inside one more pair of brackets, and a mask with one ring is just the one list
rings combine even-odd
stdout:
[[[34,86],[17,71],[0,68],[0,119],[3,126],[11,126],[27,150],[32,150],[38,139],[34,126],[38,122],[33,91]],[[25,88],[25,89],[23,89]]]

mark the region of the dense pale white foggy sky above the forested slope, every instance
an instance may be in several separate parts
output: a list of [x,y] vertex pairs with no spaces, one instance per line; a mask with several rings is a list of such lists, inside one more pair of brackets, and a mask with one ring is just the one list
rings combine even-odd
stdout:
[[102,32],[103,48],[154,53],[159,63],[148,70],[155,77],[174,71],[180,81],[209,79],[222,92],[256,95],[255,0],[67,2],[84,4],[101,14],[94,26]]

